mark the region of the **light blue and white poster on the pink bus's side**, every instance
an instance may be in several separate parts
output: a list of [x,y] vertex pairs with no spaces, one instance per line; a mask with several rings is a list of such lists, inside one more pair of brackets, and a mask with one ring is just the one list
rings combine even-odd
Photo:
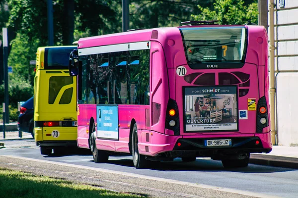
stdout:
[[97,104],[97,138],[118,140],[118,105]]

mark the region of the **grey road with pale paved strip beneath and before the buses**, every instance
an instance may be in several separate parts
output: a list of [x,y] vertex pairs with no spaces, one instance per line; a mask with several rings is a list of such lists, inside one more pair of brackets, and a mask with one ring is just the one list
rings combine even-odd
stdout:
[[[92,156],[86,152],[41,155],[33,139],[5,140],[4,146],[0,149],[0,167],[69,177],[84,183],[91,181],[93,185],[99,182],[100,186],[107,189],[122,192],[125,189],[125,192],[141,192],[150,197],[298,197],[296,169],[254,164],[246,168],[224,169],[220,161],[197,158],[195,162],[183,163],[176,159],[140,170],[134,168],[130,156],[113,156],[109,158],[109,163],[95,164]],[[112,176],[104,176],[106,174]],[[93,181],[94,178],[102,177],[110,184]],[[122,183],[132,186],[121,187]]]

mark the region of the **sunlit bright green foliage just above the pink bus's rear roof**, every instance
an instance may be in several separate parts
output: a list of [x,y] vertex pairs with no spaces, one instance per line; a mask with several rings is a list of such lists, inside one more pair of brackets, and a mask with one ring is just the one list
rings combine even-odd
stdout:
[[216,0],[214,10],[198,5],[202,11],[199,15],[192,15],[194,20],[219,20],[219,24],[243,25],[248,21],[258,23],[258,3],[254,0],[245,5],[244,0]]

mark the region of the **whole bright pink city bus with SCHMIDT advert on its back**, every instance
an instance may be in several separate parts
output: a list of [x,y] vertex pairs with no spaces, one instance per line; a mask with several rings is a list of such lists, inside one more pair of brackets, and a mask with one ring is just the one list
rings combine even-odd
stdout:
[[136,168],[177,157],[246,167],[272,150],[267,41],[263,26],[196,21],[79,39],[78,147],[95,163],[131,153]]

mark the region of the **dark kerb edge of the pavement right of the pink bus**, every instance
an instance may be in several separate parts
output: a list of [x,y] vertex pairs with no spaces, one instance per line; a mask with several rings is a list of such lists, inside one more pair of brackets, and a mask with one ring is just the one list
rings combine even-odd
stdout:
[[250,154],[249,163],[298,169],[298,158],[265,154]]

